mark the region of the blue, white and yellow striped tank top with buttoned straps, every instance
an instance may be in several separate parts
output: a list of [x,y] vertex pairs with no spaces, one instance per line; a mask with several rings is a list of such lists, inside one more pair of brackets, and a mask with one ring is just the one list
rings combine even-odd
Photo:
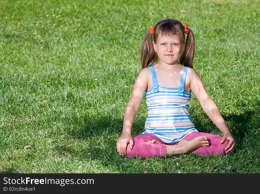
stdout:
[[153,85],[145,93],[148,115],[142,134],[150,133],[165,143],[174,143],[191,132],[198,132],[188,112],[191,94],[184,89],[189,67],[184,67],[178,88],[159,86],[154,67],[149,68]]

